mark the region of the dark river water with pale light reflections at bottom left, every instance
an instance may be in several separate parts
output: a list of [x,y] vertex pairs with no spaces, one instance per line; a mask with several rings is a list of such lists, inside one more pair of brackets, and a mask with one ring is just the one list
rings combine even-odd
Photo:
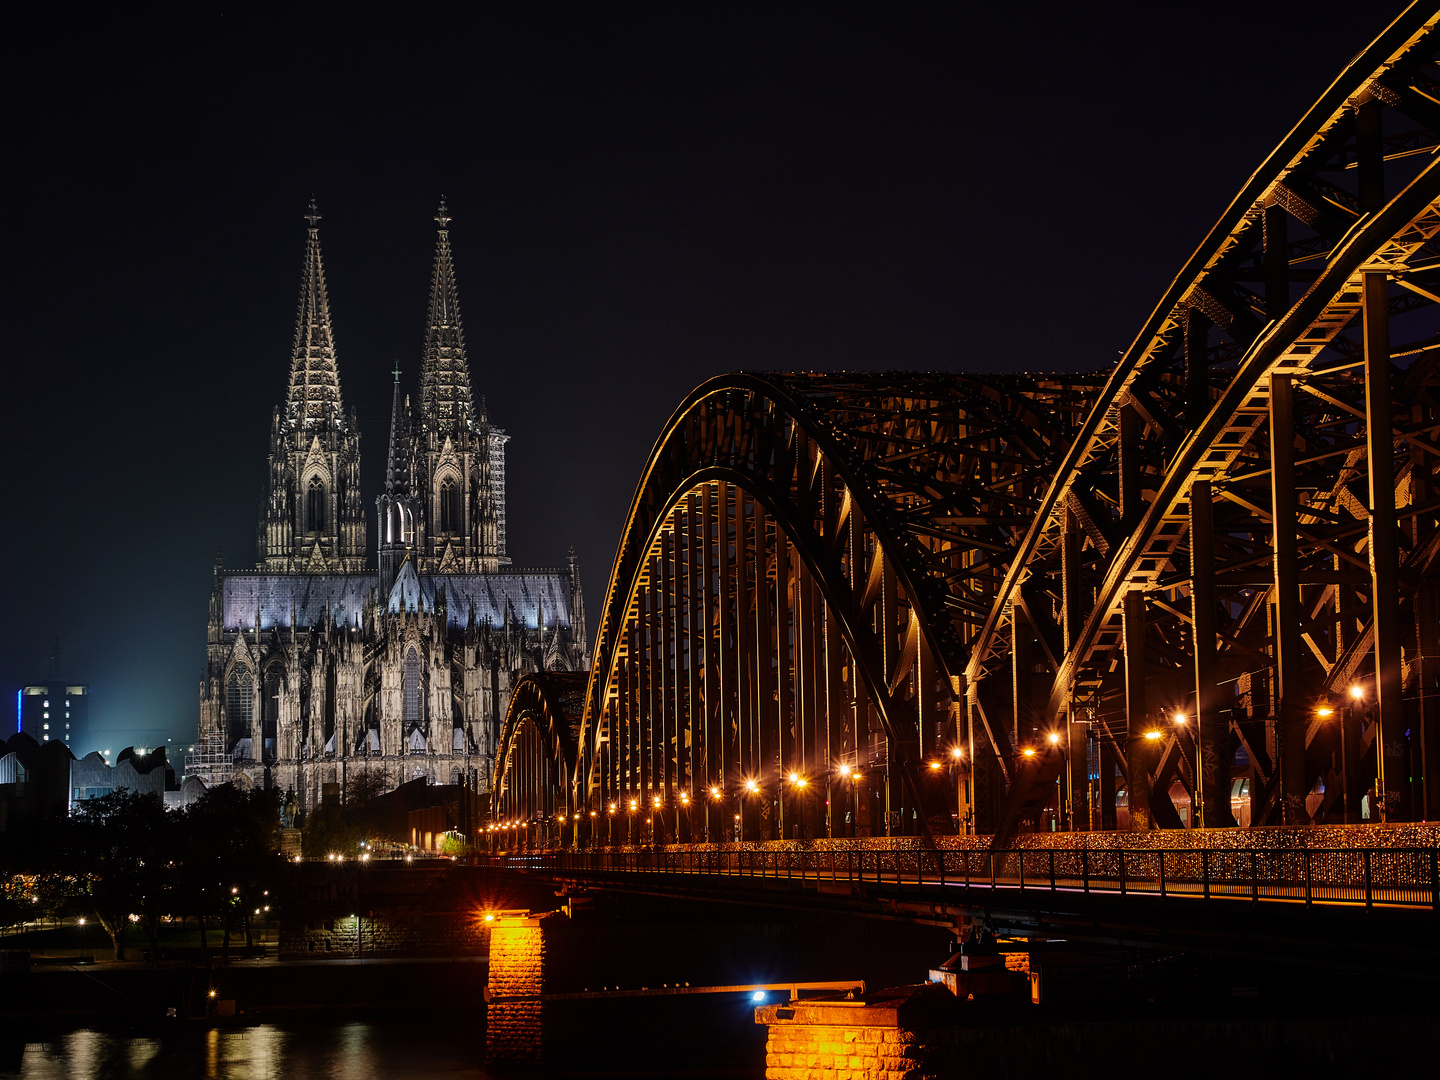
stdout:
[[[160,1034],[81,1028],[4,1047],[0,1077],[23,1080],[480,1080],[484,1044],[446,1024],[171,1028]],[[0,1038],[6,1038],[0,1035]],[[7,1040],[9,1041],[9,1040]]]

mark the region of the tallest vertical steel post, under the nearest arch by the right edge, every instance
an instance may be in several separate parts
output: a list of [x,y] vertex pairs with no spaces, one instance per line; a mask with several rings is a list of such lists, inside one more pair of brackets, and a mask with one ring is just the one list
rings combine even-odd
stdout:
[[[1375,801],[1380,819],[1392,809],[1385,788],[1388,768],[1403,765],[1385,740],[1404,730],[1400,641],[1400,541],[1395,536],[1395,433],[1390,386],[1390,278],[1364,275],[1365,438],[1369,467],[1369,576],[1375,612]],[[1397,775],[1398,773],[1397,770]]]

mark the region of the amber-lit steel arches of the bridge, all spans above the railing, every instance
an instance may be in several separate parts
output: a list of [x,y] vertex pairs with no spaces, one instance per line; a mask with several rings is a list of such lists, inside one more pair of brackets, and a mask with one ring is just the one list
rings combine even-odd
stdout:
[[513,706],[501,805],[569,842],[999,840],[1120,789],[1130,828],[1437,816],[1437,24],[1346,66],[1112,372],[691,393],[573,757]]

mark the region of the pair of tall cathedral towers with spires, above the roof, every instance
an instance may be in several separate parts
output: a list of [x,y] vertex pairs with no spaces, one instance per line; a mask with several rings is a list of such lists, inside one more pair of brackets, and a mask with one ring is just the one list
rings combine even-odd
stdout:
[[[271,422],[269,495],[261,514],[261,569],[359,573],[366,564],[360,436],[340,399],[330,301],[311,203],[305,272],[285,405]],[[377,500],[382,583],[408,554],[423,572],[494,573],[505,557],[505,441],[475,410],[459,321],[449,216],[439,239],[420,361],[419,409],[395,379],[384,492]]]

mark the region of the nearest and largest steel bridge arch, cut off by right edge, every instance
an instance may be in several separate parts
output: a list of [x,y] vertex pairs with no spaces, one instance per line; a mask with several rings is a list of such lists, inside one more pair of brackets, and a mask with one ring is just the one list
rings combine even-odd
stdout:
[[[1364,693],[1387,743],[1405,708],[1421,714],[1428,760],[1414,772],[1430,793],[1416,799],[1434,815],[1437,20],[1407,10],[1286,135],[1056,471],[966,668],[982,708],[986,681],[1034,638],[1017,631],[1017,602],[1048,598],[1066,641],[1038,665],[1035,733],[1058,749],[1038,743],[1005,792],[998,841],[1083,759],[1063,752],[1084,727],[1102,775],[1113,760],[1129,778],[1132,824],[1179,824],[1165,796],[1176,778],[1202,793],[1208,824],[1228,824],[1233,739],[1253,770],[1253,824],[1309,821],[1344,786],[1345,739],[1358,793],[1355,755],[1375,724],[1351,717],[1342,737],[1318,711],[1358,677],[1378,678]],[[1318,776],[1332,783],[1316,808]]]

